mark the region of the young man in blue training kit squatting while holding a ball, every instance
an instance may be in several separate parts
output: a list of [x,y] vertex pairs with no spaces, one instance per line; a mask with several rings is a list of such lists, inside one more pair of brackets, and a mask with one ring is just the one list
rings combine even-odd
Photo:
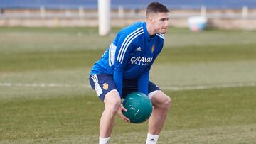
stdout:
[[110,140],[116,113],[129,122],[121,99],[131,92],[143,92],[152,101],[154,110],[149,118],[146,144],[157,143],[161,128],[171,106],[171,99],[149,81],[149,70],[164,45],[169,21],[166,6],[152,2],[146,9],[146,22],[137,22],[117,33],[99,61],[93,65],[90,84],[105,103],[100,118],[99,143]]

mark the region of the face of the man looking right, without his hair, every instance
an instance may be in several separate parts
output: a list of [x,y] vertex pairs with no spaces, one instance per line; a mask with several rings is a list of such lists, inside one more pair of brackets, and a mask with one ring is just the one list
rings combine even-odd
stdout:
[[169,26],[169,13],[154,13],[151,18],[154,31],[165,34]]

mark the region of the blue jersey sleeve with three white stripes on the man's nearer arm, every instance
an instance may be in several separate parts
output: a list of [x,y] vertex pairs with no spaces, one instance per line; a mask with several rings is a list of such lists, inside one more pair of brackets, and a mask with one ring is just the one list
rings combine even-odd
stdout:
[[127,40],[125,35],[118,38],[117,50],[115,52],[114,62],[114,84],[117,87],[119,95],[122,97],[122,83],[124,67],[129,62],[129,55],[132,52],[132,41]]

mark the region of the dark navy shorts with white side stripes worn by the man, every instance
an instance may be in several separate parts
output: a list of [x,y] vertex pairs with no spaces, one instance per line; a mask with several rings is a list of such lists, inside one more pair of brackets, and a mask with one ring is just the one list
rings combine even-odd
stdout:
[[[105,95],[108,92],[117,89],[117,87],[114,84],[112,74],[90,74],[89,81],[90,85],[92,86],[92,89],[95,90],[97,96],[99,96],[102,101],[104,101]],[[157,87],[156,84],[154,84],[153,82],[149,81],[149,94],[156,90],[159,90],[159,87]],[[122,96],[127,96],[127,94],[137,91],[137,79],[123,79]]]

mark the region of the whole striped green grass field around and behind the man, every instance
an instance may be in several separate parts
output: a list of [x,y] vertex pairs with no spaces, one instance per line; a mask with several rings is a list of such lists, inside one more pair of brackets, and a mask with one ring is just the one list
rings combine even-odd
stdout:
[[[90,67],[119,28],[0,28],[0,143],[97,143]],[[256,31],[170,28],[151,80],[172,104],[159,143],[256,143]],[[117,116],[110,143],[144,143]]]

